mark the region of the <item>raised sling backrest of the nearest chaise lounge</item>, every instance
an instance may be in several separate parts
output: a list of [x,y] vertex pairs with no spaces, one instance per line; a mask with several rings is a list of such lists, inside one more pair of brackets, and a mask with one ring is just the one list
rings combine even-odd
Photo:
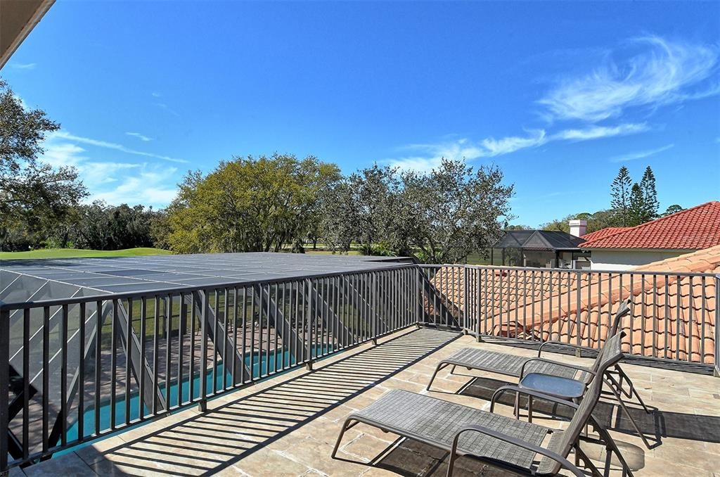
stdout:
[[[562,435],[558,439],[552,439],[550,441],[549,448],[554,452],[567,457],[572,450],[572,445],[577,441],[577,437],[580,436],[580,432],[585,428],[585,424],[588,424],[590,417],[593,414],[595,405],[598,404],[600,399],[600,392],[603,391],[603,375],[609,367],[615,365],[618,361],[623,359],[623,352],[621,349],[622,337],[624,333],[616,333],[611,336],[603,347],[602,356],[598,356],[598,375],[588,386],[588,390],[585,391],[585,397],[582,398],[580,406],[575,410],[575,414],[570,420],[567,429],[562,432]],[[554,460],[544,457],[540,460],[537,473],[539,474],[555,474],[559,472],[560,464]]]

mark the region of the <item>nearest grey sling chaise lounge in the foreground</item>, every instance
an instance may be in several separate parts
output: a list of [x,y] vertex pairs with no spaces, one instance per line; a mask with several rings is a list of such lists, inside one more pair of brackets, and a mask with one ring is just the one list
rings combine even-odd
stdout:
[[[599,363],[600,373],[622,358],[620,338],[617,334],[608,339]],[[593,409],[602,387],[603,380],[593,380],[580,404],[516,388],[519,393],[575,409],[570,424],[564,430],[550,429],[410,391],[392,390],[365,409],[348,416],[332,457],[336,458],[343,434],[356,424],[364,423],[383,432],[392,432],[446,450],[450,453],[448,476],[451,476],[455,460],[460,455],[469,455],[510,471],[542,476],[555,475],[562,468],[575,476],[583,476],[585,474],[577,467],[582,460],[593,476],[600,476],[598,468],[580,448],[580,439],[601,442],[607,450],[606,465],[609,465],[614,453],[624,471],[631,476],[630,468],[612,437],[593,419]],[[599,440],[581,436],[586,424],[593,425]],[[575,450],[574,464],[567,460],[572,450]]]

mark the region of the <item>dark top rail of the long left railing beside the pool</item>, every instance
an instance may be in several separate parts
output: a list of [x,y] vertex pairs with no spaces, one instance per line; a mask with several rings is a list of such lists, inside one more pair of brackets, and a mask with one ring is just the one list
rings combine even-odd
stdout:
[[271,280],[239,280],[233,282],[223,282],[218,280],[216,283],[209,283],[205,285],[179,285],[177,287],[162,287],[153,288],[148,290],[132,290],[128,292],[111,292],[111,293],[96,293],[94,295],[75,296],[68,298],[49,298],[48,300],[34,300],[14,303],[4,303],[0,300],[0,311],[16,311],[24,310],[27,308],[42,308],[45,306],[63,306],[63,305],[76,305],[78,303],[90,303],[95,301],[106,301],[106,300],[125,300],[128,298],[140,298],[149,296],[166,296],[173,295],[176,293],[193,293],[201,290],[214,290],[217,288],[235,288],[235,287],[251,287],[254,285],[275,285],[279,283],[287,282],[298,282],[302,280],[312,280],[316,278],[328,278],[328,277],[343,277],[352,275],[366,275],[374,272],[387,272],[390,270],[400,269],[414,269],[417,268],[417,264],[413,263],[402,263],[392,262],[395,265],[387,267],[377,267],[372,269],[364,270],[350,270],[345,272],[325,272],[325,273],[314,273],[310,275],[298,275],[297,277],[287,278],[273,278]]

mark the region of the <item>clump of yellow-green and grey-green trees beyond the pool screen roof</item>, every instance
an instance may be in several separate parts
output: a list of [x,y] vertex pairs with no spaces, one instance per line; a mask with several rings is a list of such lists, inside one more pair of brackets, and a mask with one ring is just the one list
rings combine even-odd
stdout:
[[512,186],[498,168],[443,160],[428,174],[377,164],[347,177],[335,164],[274,154],[190,172],[166,210],[171,250],[279,251],[305,244],[456,262],[502,233]]

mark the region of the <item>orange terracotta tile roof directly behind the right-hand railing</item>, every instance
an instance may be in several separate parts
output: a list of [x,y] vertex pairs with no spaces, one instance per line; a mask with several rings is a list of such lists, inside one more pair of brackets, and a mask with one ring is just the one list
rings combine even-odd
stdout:
[[[628,333],[626,352],[714,363],[715,278],[637,272],[720,273],[720,246],[647,264],[633,272],[584,272],[578,277],[574,271],[470,269],[468,307],[473,316],[480,316],[483,334],[561,340],[597,348],[606,339],[618,303],[632,297],[632,316],[622,323]],[[451,313],[461,316],[462,268],[443,267],[431,281],[443,293]],[[433,310],[433,303],[428,303],[428,311]]]

